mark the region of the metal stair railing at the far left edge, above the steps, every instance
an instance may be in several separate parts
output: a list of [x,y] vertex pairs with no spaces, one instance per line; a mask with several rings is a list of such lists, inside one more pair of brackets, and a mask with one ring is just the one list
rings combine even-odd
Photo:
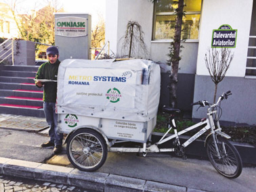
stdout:
[[[12,41],[8,42],[9,40],[12,40]],[[12,65],[14,65],[14,40],[12,38],[9,38],[3,41],[3,43],[0,44],[0,47],[2,48],[0,51],[0,64],[3,61],[5,61],[5,59],[7,59],[9,56],[12,55]]]

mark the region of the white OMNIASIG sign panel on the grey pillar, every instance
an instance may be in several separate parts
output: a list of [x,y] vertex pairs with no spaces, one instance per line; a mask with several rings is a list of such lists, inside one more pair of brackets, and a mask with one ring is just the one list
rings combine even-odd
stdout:
[[55,34],[64,37],[86,36],[87,19],[77,17],[56,18]]

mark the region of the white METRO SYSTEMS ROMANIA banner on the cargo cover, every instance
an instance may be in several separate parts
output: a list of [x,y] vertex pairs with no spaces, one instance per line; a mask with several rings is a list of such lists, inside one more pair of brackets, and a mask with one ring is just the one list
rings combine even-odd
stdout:
[[100,107],[134,107],[136,74],[125,69],[66,68],[64,103]]

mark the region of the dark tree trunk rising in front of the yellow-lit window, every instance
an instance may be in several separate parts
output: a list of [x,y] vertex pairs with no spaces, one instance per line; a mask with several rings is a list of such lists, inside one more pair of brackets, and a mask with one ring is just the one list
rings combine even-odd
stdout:
[[170,75],[170,87],[169,87],[169,105],[171,107],[177,107],[177,81],[179,70],[179,52],[180,52],[180,40],[182,37],[182,17],[184,15],[184,0],[179,0],[177,8],[177,20],[175,23],[175,36],[173,39],[173,58],[171,58],[171,75]]

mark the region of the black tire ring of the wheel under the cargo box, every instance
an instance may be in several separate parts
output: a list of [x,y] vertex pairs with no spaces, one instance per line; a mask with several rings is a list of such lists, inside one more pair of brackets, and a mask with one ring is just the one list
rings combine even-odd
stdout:
[[[95,137],[98,142],[100,143],[101,147],[102,147],[102,158],[100,159],[100,162],[98,162],[98,164],[96,164],[95,166],[91,167],[91,166],[85,166],[82,164],[79,164],[79,162],[77,162],[74,158],[74,156],[72,155],[72,141],[74,141],[74,139],[80,135],[91,135],[93,137]],[[70,146],[71,145],[71,146]],[[83,150],[82,150],[83,151]],[[106,141],[104,140],[104,138],[102,137],[102,135],[100,135],[100,133],[98,133],[95,130],[91,130],[91,129],[87,129],[87,128],[83,128],[81,130],[77,130],[74,133],[72,133],[72,135],[70,135],[70,137],[68,138],[67,141],[67,145],[66,145],[66,153],[68,155],[68,160],[70,160],[71,164],[75,167],[78,168],[79,170],[82,171],[87,171],[87,172],[93,172],[95,170],[98,170],[100,167],[103,166],[103,164],[106,161],[107,155],[108,155],[108,149],[107,149],[107,145],[106,145]],[[92,157],[91,155],[89,155],[89,157]],[[89,158],[88,157],[88,158]],[[86,160],[87,158],[85,158]]]

